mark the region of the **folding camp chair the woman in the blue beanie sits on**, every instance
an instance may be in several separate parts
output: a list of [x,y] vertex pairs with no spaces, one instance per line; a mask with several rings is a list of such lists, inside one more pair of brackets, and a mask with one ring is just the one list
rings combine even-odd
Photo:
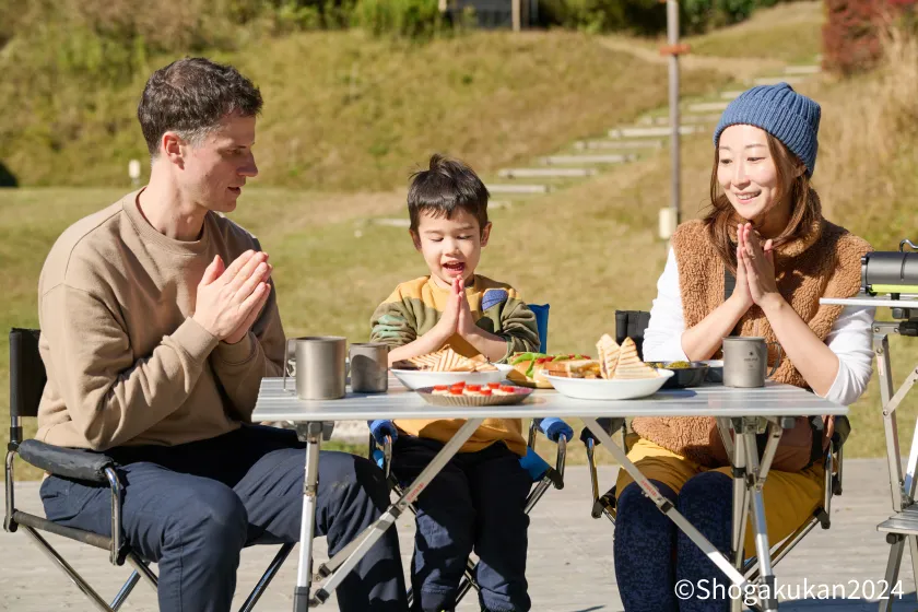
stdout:
[[[639,354],[642,358],[644,358],[644,331],[647,329],[649,320],[650,314],[645,311],[631,310],[615,313],[615,336],[617,337],[617,341],[621,342],[626,336],[629,336],[633,340],[635,340],[635,343],[638,346],[640,346]],[[602,422],[602,420],[600,421]],[[607,420],[601,424],[608,427],[610,422]],[[607,431],[609,432],[609,429]],[[770,546],[773,566],[779,561],[781,561],[785,556],[787,556],[787,554],[793,549],[793,546],[796,546],[800,542],[800,540],[802,540],[803,537],[807,536],[807,533],[809,533],[815,528],[816,523],[819,523],[823,529],[829,528],[829,510],[832,507],[832,497],[836,495],[841,495],[841,464],[844,457],[841,447],[844,440],[848,437],[849,432],[850,425],[848,423],[848,419],[845,416],[836,417],[835,433],[832,436],[828,449],[826,450],[823,458],[823,460],[825,461],[823,503],[813,511],[812,516],[810,516],[790,536]],[[611,434],[612,432],[609,433]],[[625,452],[627,452],[631,449],[631,446],[637,439],[637,435],[628,433],[626,424],[624,422],[621,426],[621,433],[623,439],[623,447],[625,449]],[[590,515],[592,516],[592,518],[597,519],[602,516],[605,516],[605,518],[608,518],[614,525],[616,516],[615,486],[612,486],[612,489],[607,491],[604,494],[599,495],[599,479],[596,467],[596,439],[588,429],[584,429],[584,432],[580,434],[580,439],[584,442],[587,449],[587,463],[589,466],[590,482],[592,485],[593,503]],[[762,448],[760,447],[760,454],[761,452]],[[743,472],[745,468],[742,468]],[[734,475],[734,478],[744,478],[744,473],[737,474]],[[742,551],[737,551],[737,553],[738,555],[742,555]],[[758,563],[755,555],[742,560],[737,558],[734,560],[734,563],[748,580],[752,581],[757,579]]]

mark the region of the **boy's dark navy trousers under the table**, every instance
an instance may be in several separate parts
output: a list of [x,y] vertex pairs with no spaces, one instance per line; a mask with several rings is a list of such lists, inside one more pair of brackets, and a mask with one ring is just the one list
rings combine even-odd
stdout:
[[[443,445],[405,434],[396,439],[392,472],[414,480]],[[490,612],[530,609],[526,582],[526,497],[532,479],[519,456],[497,443],[459,452],[417,497],[411,567],[414,610],[451,611],[466,561],[479,556],[480,603]]]

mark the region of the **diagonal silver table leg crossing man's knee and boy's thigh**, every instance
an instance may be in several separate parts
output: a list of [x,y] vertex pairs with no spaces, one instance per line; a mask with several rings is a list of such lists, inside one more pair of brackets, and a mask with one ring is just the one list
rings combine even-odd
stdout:
[[[399,499],[389,506],[376,522],[367,527],[354,541],[341,549],[333,557],[319,566],[318,576],[328,577],[326,582],[316,590],[314,604],[325,602],[330,593],[338,588],[344,577],[360,563],[369,549],[382,537],[382,533],[391,527],[399,516],[410,507],[419,495],[427,487],[431,480],[436,476],[444,466],[462,448],[462,445],[472,436],[475,429],[484,422],[484,419],[469,419],[459,427],[459,431],[450,438],[443,449],[437,452],[424,470],[414,479]],[[298,610],[296,611],[298,612]]]

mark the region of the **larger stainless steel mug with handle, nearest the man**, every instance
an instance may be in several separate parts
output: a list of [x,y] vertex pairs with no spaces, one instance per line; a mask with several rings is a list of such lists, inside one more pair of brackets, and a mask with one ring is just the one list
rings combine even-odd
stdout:
[[[341,336],[307,336],[287,340],[287,374],[296,379],[296,397],[303,400],[337,400],[344,397],[344,361],[348,339]],[[294,366],[290,367],[290,357]]]

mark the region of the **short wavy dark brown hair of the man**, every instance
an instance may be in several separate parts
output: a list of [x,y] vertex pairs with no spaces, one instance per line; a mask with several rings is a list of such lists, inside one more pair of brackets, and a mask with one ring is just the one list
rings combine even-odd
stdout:
[[207,58],[185,58],[154,72],[137,107],[150,155],[160,139],[175,131],[198,143],[231,113],[254,117],[261,111],[261,92],[232,66]]

